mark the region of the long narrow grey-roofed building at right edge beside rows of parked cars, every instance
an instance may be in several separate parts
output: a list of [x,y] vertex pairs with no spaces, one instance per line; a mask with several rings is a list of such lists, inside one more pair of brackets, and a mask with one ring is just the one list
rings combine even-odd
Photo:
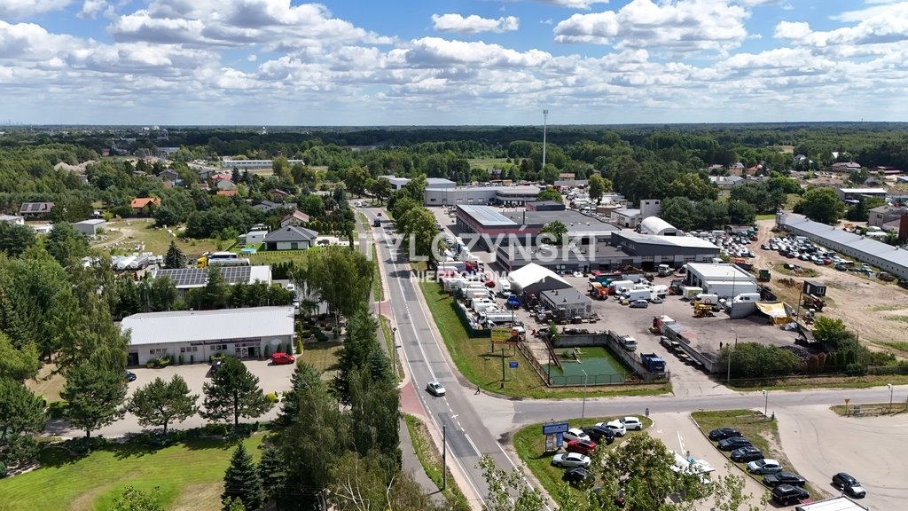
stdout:
[[805,236],[817,245],[876,266],[893,276],[908,278],[908,251],[903,248],[814,222],[804,215],[780,213],[775,216],[775,224],[795,235]]

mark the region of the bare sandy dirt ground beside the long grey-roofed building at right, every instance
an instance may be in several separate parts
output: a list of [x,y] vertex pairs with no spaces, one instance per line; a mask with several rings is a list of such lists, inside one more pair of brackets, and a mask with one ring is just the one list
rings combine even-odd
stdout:
[[[754,244],[756,256],[752,260],[755,269],[772,269],[774,264],[795,261],[771,250],[760,249],[760,244],[767,243],[775,236],[771,232],[774,225],[775,220],[757,222],[759,234],[758,241]],[[908,320],[908,308],[901,306],[908,302],[908,292],[894,284],[886,284],[851,272],[836,271],[832,266],[815,266],[804,261],[795,263],[801,266],[809,265],[819,273],[819,276],[808,278],[785,276],[794,279],[796,286],[784,286],[778,282],[783,276],[774,273],[769,286],[779,299],[785,300],[796,309],[804,280],[821,282],[826,285],[826,296],[829,299],[820,314],[842,319],[860,340],[871,344],[875,349],[888,351],[896,356],[908,356],[908,352],[893,347],[899,346],[899,343],[908,343],[908,328],[903,328],[903,323]],[[892,304],[899,304],[898,308],[890,309]]]

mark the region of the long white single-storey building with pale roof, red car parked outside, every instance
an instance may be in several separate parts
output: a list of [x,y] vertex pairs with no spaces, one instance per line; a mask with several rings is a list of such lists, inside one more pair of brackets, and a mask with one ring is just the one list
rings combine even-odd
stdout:
[[160,356],[183,355],[185,364],[208,362],[215,354],[259,358],[265,346],[273,353],[294,340],[292,306],[134,314],[120,328],[131,332],[130,366]]

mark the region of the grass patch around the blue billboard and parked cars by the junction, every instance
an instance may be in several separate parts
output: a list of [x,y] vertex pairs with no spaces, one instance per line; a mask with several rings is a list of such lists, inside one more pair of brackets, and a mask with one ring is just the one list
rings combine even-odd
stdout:
[[[579,418],[573,418],[568,422],[572,427],[577,427],[581,424],[583,426],[592,426],[597,422],[608,422],[617,418],[618,417],[587,417],[583,421],[580,421]],[[648,417],[640,417],[640,420],[643,421],[644,431],[646,431],[646,428],[653,425],[653,421],[649,420]],[[646,435],[646,433],[641,431],[628,431],[627,436],[616,437],[615,442],[612,445],[607,446],[605,444],[600,444],[597,446],[597,449],[605,447],[606,452],[610,451],[617,448],[617,446],[620,446],[627,438],[634,435]],[[564,476],[565,469],[552,466],[552,456],[555,456],[556,453],[545,452],[546,437],[542,435],[541,424],[520,428],[517,434],[514,435],[514,449],[517,451],[518,456],[520,456],[520,461],[529,468],[533,473],[533,476],[536,476],[539,484],[546,489],[548,496],[551,496],[554,499],[558,496],[558,487],[568,486],[568,483],[561,480],[561,477]],[[571,488],[571,491],[575,496],[582,496],[583,490],[575,486],[568,487]]]

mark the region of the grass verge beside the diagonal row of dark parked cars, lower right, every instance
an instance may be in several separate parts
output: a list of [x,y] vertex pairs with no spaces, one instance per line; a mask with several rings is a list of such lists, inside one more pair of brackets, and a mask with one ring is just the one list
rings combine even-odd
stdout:
[[[760,451],[763,452],[763,456],[775,459],[785,467],[785,470],[797,472],[795,466],[792,466],[791,462],[788,461],[788,457],[785,456],[785,452],[782,450],[782,444],[779,441],[779,428],[775,423],[775,420],[753,410],[694,412],[691,416],[694,418],[696,425],[700,428],[700,431],[703,432],[704,436],[708,435],[710,430],[716,429],[717,427],[734,427],[741,431],[741,434],[749,439],[756,448],[760,449]],[[745,475],[752,477],[761,485],[763,484],[763,476],[747,472],[746,463],[735,463],[731,460],[731,453],[729,451],[716,450],[721,453],[722,456],[725,456],[730,465],[737,466]],[[810,492],[810,496],[814,500],[820,500],[824,496],[828,496],[826,492],[820,491],[817,486],[812,486],[809,481],[805,488]],[[766,491],[771,491],[771,488],[767,487]]]

